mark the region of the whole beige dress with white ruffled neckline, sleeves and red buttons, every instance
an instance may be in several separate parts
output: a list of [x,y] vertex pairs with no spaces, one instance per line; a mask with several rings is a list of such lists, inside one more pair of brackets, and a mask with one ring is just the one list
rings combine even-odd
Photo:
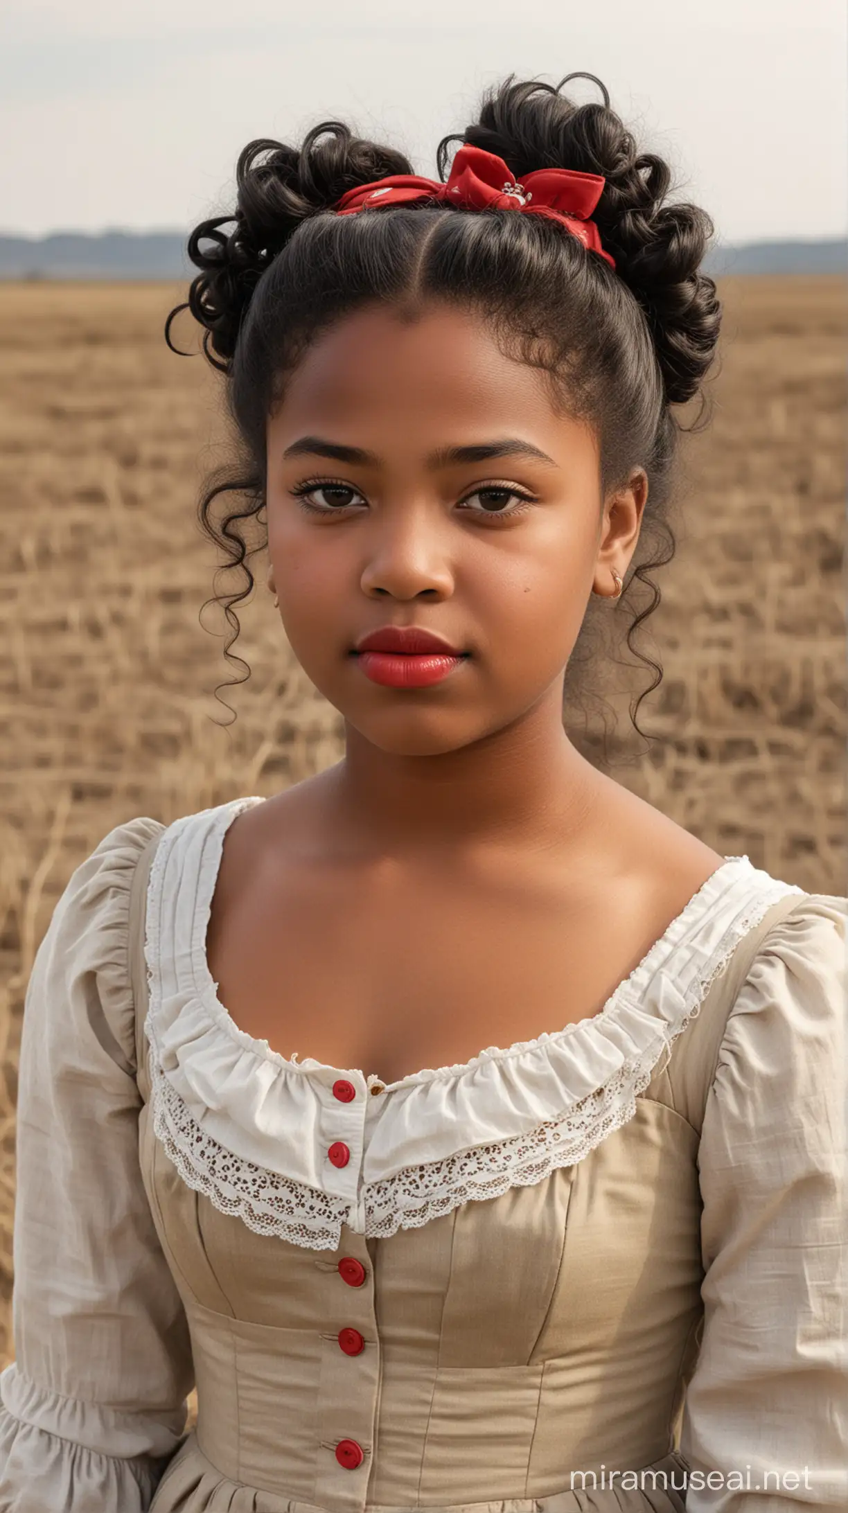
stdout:
[[727,858],[598,1015],[386,1085],[218,1000],[260,802],[38,950],[0,1513],[848,1507],[846,900]]

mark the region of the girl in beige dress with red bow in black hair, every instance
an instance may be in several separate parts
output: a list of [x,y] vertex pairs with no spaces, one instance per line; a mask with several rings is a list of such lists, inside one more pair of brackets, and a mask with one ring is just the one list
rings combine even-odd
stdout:
[[562,717],[666,530],[712,227],[606,91],[450,141],[251,142],[189,241],[242,449],[203,517],[267,528],[345,755],[120,825],[56,906],[3,1513],[848,1501],[846,900]]

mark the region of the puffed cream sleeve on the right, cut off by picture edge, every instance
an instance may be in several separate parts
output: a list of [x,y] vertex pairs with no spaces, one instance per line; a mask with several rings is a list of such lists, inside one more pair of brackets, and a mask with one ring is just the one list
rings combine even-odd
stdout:
[[727,1020],[698,1156],[686,1513],[848,1508],[846,915],[804,894]]

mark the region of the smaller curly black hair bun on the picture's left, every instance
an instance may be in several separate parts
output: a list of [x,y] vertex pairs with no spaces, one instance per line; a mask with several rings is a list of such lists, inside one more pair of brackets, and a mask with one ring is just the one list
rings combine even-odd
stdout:
[[206,328],[209,362],[229,369],[253,290],[303,221],[329,210],[347,189],[409,172],[403,153],[354,136],[342,121],[315,126],[300,148],[271,138],[248,142],[236,166],[235,212],[201,221],[188,239],[200,274],[186,304]]

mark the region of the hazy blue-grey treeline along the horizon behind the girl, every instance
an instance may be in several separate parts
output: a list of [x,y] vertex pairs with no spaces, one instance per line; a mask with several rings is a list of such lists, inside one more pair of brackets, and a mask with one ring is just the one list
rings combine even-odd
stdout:
[[[716,247],[712,274],[843,274],[848,239]],[[179,231],[58,231],[0,236],[0,278],[188,278],[195,272]]]

